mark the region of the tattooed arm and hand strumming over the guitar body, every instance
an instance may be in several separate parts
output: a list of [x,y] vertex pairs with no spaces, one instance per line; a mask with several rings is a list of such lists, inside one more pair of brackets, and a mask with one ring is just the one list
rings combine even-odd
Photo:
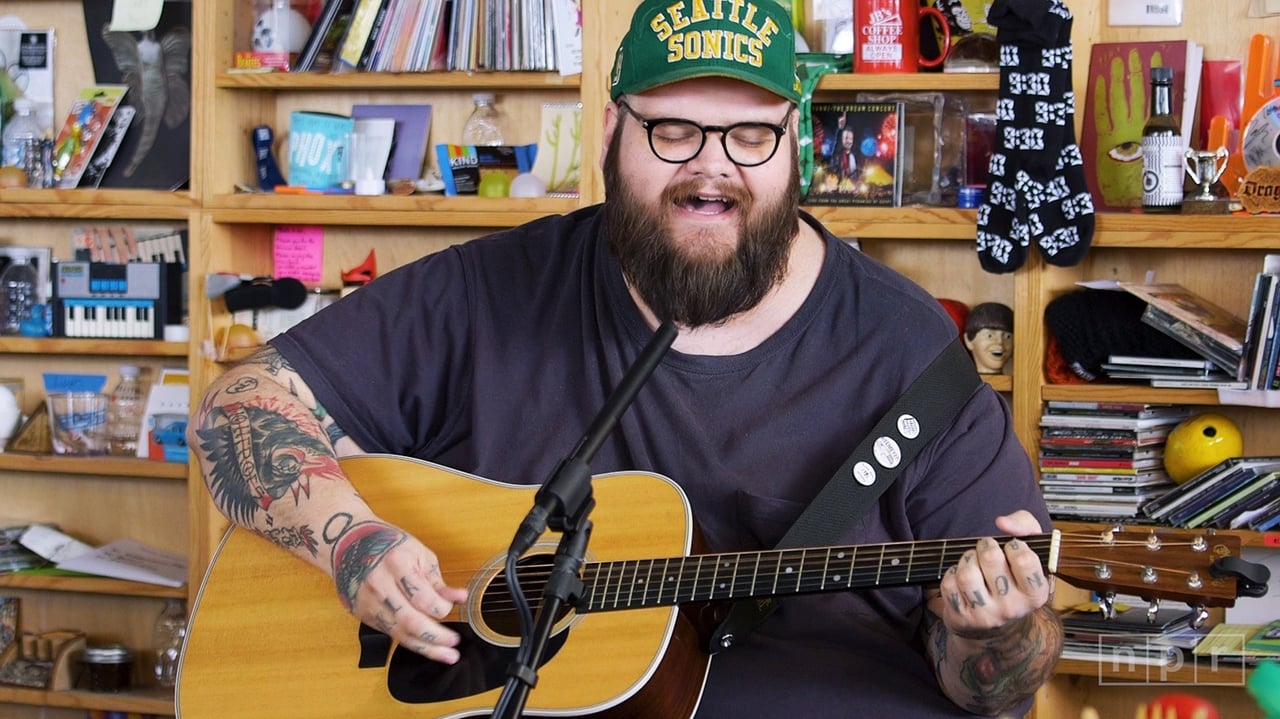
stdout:
[[435,554],[383,522],[343,475],[360,446],[273,347],[215,380],[187,430],[214,504],[232,522],[333,577],[361,622],[453,664],[457,633],[439,619],[466,599]]

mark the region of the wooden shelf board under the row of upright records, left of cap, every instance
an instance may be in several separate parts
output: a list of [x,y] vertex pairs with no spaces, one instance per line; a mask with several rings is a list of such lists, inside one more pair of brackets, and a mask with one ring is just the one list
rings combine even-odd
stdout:
[[581,75],[558,73],[232,73],[221,72],[214,87],[223,90],[538,90],[581,86]]

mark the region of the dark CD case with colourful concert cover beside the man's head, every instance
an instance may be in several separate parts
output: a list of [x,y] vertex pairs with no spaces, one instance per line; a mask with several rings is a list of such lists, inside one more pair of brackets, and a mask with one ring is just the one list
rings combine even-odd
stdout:
[[901,102],[814,102],[808,205],[902,203]]

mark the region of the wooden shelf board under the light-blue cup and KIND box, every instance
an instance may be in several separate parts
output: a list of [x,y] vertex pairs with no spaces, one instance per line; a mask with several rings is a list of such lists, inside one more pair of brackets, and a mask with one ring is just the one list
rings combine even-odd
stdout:
[[576,198],[488,200],[483,197],[355,197],[349,194],[220,194],[206,209],[223,224],[307,223],[321,225],[506,228],[552,214],[572,212]]

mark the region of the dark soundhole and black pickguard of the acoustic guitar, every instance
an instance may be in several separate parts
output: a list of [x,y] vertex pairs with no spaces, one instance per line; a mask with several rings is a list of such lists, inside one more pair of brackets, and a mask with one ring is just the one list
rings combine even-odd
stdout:
[[[552,560],[550,554],[536,554],[525,557],[518,563],[520,586],[535,617],[541,605]],[[439,664],[407,649],[396,647],[387,668],[387,688],[392,697],[404,704],[452,701],[497,690],[507,683],[507,667],[516,660],[520,642],[520,615],[507,589],[507,573],[498,572],[481,591],[480,615],[474,619],[476,627],[461,622],[447,623],[462,637],[458,645],[462,658],[457,664]],[[550,661],[564,646],[568,632],[561,629],[568,615],[567,609],[557,614],[557,631],[547,640],[539,667]]]

